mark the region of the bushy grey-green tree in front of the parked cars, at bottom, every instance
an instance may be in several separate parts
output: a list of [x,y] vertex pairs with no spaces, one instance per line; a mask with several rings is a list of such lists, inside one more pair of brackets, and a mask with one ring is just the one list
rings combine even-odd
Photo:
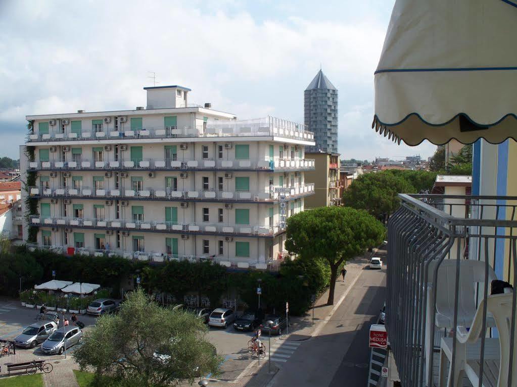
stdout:
[[142,289],[126,296],[117,315],[99,317],[73,354],[81,369],[95,369],[122,386],[161,387],[190,383],[218,372],[221,358],[193,314],[161,308]]

